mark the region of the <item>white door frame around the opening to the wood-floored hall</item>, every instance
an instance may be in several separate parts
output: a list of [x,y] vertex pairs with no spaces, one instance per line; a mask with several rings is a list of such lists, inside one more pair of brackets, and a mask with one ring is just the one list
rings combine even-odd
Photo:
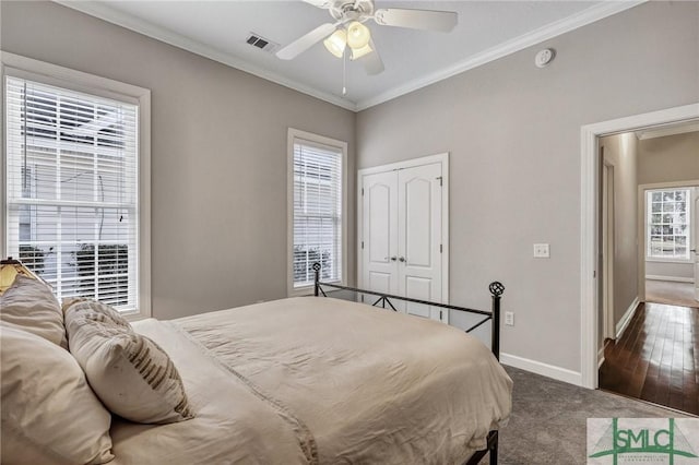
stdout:
[[[596,389],[599,318],[599,139],[649,127],[699,120],[699,103],[666,108],[580,128],[580,375],[581,385]],[[640,276],[639,276],[640,279]]]

